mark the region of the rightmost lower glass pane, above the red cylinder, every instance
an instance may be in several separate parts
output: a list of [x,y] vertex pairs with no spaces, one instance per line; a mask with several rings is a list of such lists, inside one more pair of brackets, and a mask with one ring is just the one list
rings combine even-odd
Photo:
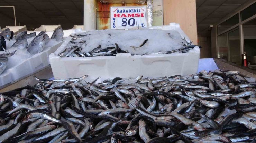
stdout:
[[256,64],[256,19],[243,25],[244,27],[244,51],[251,65]]

